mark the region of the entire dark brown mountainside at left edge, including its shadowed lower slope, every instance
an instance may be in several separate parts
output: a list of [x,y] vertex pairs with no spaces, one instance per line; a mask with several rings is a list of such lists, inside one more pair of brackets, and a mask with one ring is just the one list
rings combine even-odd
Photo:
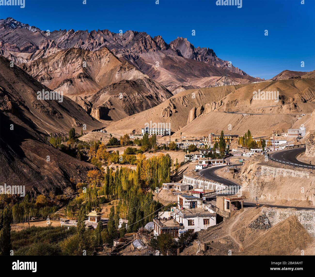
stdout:
[[62,192],[86,178],[89,163],[54,148],[45,136],[81,133],[104,125],[70,98],[37,99],[49,88],[0,56],[0,182],[23,184],[32,194]]

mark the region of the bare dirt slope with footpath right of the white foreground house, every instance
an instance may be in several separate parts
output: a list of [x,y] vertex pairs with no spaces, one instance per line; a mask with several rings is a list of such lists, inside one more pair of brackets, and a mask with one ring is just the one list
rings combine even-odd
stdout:
[[[263,206],[266,207],[266,206]],[[270,229],[252,229],[249,225],[261,215],[261,208],[245,208],[221,224],[198,232],[196,240],[208,246],[201,255],[314,255],[314,238],[295,216],[290,216]],[[181,256],[196,255],[189,246]]]

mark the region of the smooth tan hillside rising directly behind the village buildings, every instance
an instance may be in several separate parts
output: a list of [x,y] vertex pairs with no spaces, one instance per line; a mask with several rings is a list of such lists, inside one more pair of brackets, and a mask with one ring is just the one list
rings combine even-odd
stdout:
[[[254,100],[254,91],[279,91],[279,101]],[[136,133],[145,123],[170,123],[173,138],[202,136],[210,132],[266,136],[305,122],[315,108],[315,79],[291,79],[256,84],[182,91],[162,104],[107,127],[113,133]],[[307,127],[307,125],[306,125]]]

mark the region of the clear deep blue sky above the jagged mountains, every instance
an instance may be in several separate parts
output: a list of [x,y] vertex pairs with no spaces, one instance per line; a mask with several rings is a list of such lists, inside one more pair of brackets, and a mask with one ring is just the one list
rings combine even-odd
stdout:
[[0,18],[7,17],[41,30],[136,30],[161,35],[167,43],[186,37],[265,79],[284,69],[315,69],[314,0],[243,0],[242,8],[206,0],[25,0],[25,8],[0,6]]

